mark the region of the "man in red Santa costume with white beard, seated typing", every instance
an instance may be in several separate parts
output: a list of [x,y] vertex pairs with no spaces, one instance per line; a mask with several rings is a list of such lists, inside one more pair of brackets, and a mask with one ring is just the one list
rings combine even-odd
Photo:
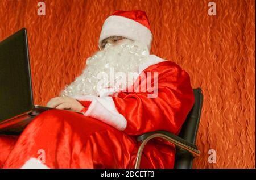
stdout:
[[[134,168],[136,137],[179,133],[194,103],[188,73],[150,55],[143,11],[115,11],[104,22],[100,51],[52,98],[20,136],[0,135],[2,168]],[[81,112],[79,114],[77,112]],[[141,168],[173,168],[175,147],[154,139]]]

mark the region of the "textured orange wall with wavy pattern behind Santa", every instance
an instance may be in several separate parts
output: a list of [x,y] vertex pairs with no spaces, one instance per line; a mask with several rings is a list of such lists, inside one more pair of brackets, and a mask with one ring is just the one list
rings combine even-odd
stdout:
[[[151,53],[179,64],[204,94],[194,168],[255,168],[255,2],[185,0],[0,0],[0,40],[28,30],[36,104],[81,73],[97,51],[102,23],[114,10],[144,10],[154,41]],[[216,164],[208,163],[215,149]]]

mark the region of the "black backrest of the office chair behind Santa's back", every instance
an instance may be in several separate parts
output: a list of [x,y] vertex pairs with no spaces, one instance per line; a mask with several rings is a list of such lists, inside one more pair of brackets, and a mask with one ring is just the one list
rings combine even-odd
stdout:
[[[195,95],[195,104],[189,112],[179,137],[187,140],[189,143],[196,143],[197,130],[199,128],[201,109],[203,106],[203,94],[201,88],[193,89]],[[177,148],[175,157],[175,169],[192,168],[193,156],[184,149]]]

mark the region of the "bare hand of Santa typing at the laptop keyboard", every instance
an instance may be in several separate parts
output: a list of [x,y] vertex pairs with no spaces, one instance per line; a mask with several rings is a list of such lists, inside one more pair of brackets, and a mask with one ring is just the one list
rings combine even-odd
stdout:
[[52,98],[46,105],[47,107],[57,108],[60,110],[71,110],[80,112],[84,106],[76,99],[71,97],[55,97]]

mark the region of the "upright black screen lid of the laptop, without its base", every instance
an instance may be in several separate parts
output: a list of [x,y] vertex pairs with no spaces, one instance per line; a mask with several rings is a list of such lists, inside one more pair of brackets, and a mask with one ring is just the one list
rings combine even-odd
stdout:
[[33,106],[27,31],[0,42],[0,123]]

